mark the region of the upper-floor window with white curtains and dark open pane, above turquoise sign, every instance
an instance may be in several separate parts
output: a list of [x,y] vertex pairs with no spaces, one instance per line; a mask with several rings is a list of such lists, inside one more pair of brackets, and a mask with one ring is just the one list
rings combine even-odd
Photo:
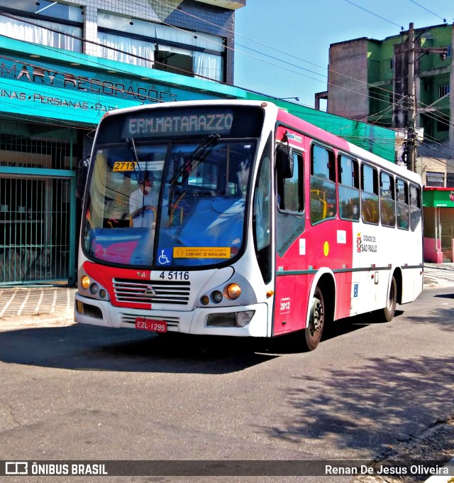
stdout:
[[98,41],[102,58],[209,80],[224,77],[223,38],[208,33],[99,12]]

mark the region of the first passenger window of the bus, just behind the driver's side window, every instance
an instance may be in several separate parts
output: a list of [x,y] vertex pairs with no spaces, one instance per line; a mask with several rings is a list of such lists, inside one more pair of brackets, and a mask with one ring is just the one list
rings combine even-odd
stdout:
[[311,148],[311,223],[336,217],[336,166],[333,151],[312,145]]

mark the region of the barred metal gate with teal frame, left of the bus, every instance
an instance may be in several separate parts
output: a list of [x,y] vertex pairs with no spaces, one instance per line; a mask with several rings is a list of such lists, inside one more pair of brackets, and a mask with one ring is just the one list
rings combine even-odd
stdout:
[[74,283],[72,143],[0,132],[0,161],[0,286]]

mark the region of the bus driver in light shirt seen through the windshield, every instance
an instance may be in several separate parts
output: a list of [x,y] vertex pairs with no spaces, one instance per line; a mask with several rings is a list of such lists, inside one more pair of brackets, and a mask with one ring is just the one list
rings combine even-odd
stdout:
[[139,178],[138,189],[129,197],[129,215],[135,228],[153,227],[155,222],[157,193],[152,191],[153,178],[153,172],[147,171]]

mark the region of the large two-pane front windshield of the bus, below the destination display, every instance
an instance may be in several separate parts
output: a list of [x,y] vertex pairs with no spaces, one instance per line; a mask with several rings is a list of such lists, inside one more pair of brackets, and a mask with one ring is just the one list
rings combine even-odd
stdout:
[[223,264],[241,251],[257,139],[175,141],[95,146],[82,231],[89,258],[150,269]]

